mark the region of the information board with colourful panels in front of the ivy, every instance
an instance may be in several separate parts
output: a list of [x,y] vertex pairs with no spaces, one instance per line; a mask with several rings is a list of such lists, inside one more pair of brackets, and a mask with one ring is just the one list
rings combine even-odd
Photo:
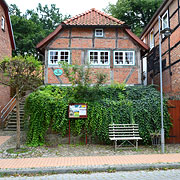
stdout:
[[69,104],[69,118],[87,118],[87,104]]

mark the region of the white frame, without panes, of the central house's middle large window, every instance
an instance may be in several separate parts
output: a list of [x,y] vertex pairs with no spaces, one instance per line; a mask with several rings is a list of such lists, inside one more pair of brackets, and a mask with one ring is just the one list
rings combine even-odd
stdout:
[[[91,63],[91,61],[90,61],[90,53],[91,52],[97,52],[98,53],[98,63]],[[107,52],[108,53],[108,63],[107,64],[101,63],[101,52]],[[89,59],[90,65],[93,65],[93,66],[109,66],[110,65],[110,51],[107,51],[107,50],[89,50],[88,59]]]

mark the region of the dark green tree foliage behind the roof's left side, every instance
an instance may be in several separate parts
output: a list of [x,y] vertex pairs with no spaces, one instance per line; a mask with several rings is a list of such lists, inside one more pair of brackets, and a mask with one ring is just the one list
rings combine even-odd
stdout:
[[10,16],[16,42],[14,55],[38,55],[35,49],[38,42],[49,35],[62,21],[63,16],[55,4],[50,8],[39,3],[34,10],[26,10],[24,14],[15,5],[10,6]]

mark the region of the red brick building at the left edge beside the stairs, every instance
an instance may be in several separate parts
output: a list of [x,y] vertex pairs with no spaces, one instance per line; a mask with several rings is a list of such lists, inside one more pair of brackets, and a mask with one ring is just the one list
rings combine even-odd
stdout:
[[[15,41],[8,12],[8,5],[0,0],[0,60],[12,55]],[[10,100],[10,88],[0,85],[0,109]]]

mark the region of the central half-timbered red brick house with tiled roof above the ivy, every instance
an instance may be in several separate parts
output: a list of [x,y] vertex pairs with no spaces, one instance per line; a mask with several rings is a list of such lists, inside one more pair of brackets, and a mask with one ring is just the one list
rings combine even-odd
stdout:
[[124,22],[91,9],[62,22],[37,49],[44,56],[45,84],[68,84],[63,74],[54,74],[58,62],[67,62],[89,63],[92,76],[103,71],[107,83],[134,85],[142,83],[141,56],[149,47]]

